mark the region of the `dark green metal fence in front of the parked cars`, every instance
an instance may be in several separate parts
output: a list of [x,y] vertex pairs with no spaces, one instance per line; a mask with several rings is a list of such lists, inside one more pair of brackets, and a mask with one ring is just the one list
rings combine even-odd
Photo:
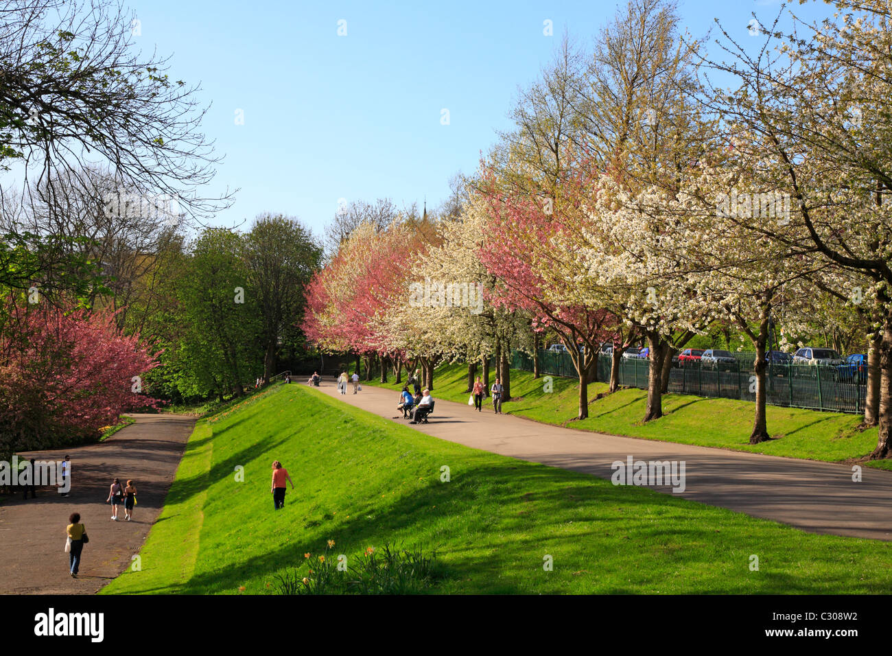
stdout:
[[[532,371],[533,358],[526,353],[512,354],[514,369]],[[754,357],[739,358],[735,364],[718,367],[699,362],[674,364],[669,375],[669,392],[697,394],[713,398],[756,401]],[[598,359],[598,380],[610,380],[610,356]],[[578,378],[569,353],[539,351],[539,370],[547,376]],[[641,358],[620,361],[619,384],[647,389],[650,361]],[[767,403],[789,408],[808,408],[860,413],[864,407],[866,375],[845,365],[831,367],[807,364],[770,364],[765,374]]]

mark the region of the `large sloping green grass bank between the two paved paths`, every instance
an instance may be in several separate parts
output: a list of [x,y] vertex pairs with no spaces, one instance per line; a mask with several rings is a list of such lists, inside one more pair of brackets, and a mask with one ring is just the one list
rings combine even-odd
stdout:
[[[274,511],[270,463],[297,489]],[[244,482],[235,480],[244,467]],[[450,481],[442,482],[442,466]],[[888,593],[892,544],[613,486],[426,436],[306,386],[200,420],[164,510],[103,594],[271,594],[326,540],[436,549],[440,593]],[[759,570],[750,571],[750,556]],[[553,558],[553,571],[543,558]],[[244,589],[243,589],[244,588]]]

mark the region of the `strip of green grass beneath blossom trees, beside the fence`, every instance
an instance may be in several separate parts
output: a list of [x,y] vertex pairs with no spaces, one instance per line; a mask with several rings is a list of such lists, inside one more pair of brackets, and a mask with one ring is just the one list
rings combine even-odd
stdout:
[[[492,376],[490,377],[492,380]],[[392,381],[391,377],[391,381]],[[394,383],[386,386],[396,389]],[[818,461],[863,459],[877,445],[877,429],[858,430],[861,415],[820,412],[799,408],[767,408],[768,432],[772,440],[748,444],[753,428],[754,405],[747,401],[707,399],[690,394],[666,394],[664,417],[641,422],[647,391],[622,389],[595,401],[607,392],[604,383],[589,385],[589,418],[577,416],[579,392],[573,378],[552,378],[553,391],[543,391],[543,378],[529,371],[511,370],[511,394],[519,397],[504,404],[504,411],[548,424],[569,426],[610,435],[641,437],[681,444],[716,446],[751,453],[767,453],[788,458]],[[467,403],[467,365],[446,365],[434,373],[434,397]],[[491,405],[487,406],[491,411]],[[864,464],[892,469],[892,461],[866,461]]]

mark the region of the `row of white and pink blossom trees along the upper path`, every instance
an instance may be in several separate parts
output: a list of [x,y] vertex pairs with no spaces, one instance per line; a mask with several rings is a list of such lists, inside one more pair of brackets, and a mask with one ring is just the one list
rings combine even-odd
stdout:
[[[672,4],[632,0],[592,54],[562,46],[435,239],[398,222],[351,234],[313,282],[308,335],[425,370],[464,359],[470,379],[493,353],[508,378],[508,348],[548,331],[574,361],[579,419],[600,343],[616,346],[615,391],[624,348],[644,341],[648,421],[673,354],[722,324],[756,353],[756,444],[770,435],[775,331],[789,349],[846,323],[869,354],[872,456],[890,457],[892,26],[880,0],[837,5],[814,24],[781,10],[755,51],[720,26],[728,61],[716,62]],[[483,303],[410,303],[429,280],[479,284]]]

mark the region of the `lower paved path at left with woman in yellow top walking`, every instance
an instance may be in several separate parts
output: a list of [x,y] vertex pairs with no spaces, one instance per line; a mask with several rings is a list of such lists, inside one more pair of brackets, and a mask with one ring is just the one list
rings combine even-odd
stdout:
[[[134,414],[136,423],[100,444],[68,451],[39,451],[37,460],[60,461],[71,456],[71,492],[52,488],[5,497],[0,505],[0,594],[92,594],[130,566],[130,557],[145,542],[161,513],[164,496],[177,471],[195,419],[173,414]],[[114,477],[136,485],[133,520],[111,521],[105,502]],[[68,573],[65,527],[79,512],[90,542],[78,578]]]

